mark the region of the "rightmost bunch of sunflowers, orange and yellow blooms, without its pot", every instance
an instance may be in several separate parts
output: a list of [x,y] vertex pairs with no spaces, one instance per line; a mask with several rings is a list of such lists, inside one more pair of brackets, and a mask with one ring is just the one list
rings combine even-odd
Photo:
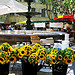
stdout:
[[50,49],[46,56],[48,64],[72,64],[73,62],[74,50],[70,48],[65,50]]

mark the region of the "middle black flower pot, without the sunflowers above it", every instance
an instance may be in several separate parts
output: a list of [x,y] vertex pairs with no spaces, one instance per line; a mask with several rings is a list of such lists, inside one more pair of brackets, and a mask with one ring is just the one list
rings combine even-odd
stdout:
[[22,62],[22,75],[37,75],[37,64],[33,66],[29,62]]

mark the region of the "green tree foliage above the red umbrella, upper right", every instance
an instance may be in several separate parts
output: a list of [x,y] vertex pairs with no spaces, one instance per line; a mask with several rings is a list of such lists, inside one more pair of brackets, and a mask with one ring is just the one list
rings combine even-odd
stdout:
[[[75,0],[59,0],[59,1],[54,1],[54,0],[39,0],[43,4],[47,4],[48,6],[52,7],[52,9],[47,8],[48,10],[59,10],[59,8],[65,9],[65,11],[69,14],[72,13],[72,11],[75,9]],[[60,12],[61,10],[59,10]],[[63,11],[63,12],[65,12]],[[51,12],[51,11],[50,11]],[[54,12],[55,13],[55,12]]]

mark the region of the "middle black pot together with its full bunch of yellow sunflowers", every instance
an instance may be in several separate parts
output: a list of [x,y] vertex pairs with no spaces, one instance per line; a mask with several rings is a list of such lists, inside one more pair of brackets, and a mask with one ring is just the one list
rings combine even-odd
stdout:
[[42,67],[42,65],[38,66],[38,62],[45,57],[42,46],[36,43],[34,46],[24,45],[15,50],[18,51],[18,58],[22,61],[22,74],[37,75],[37,71]]

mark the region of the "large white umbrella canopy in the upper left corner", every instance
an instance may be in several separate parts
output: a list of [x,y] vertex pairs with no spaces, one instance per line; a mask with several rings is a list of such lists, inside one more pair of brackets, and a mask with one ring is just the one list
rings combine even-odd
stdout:
[[27,6],[24,6],[15,0],[0,0],[0,15],[27,11]]

